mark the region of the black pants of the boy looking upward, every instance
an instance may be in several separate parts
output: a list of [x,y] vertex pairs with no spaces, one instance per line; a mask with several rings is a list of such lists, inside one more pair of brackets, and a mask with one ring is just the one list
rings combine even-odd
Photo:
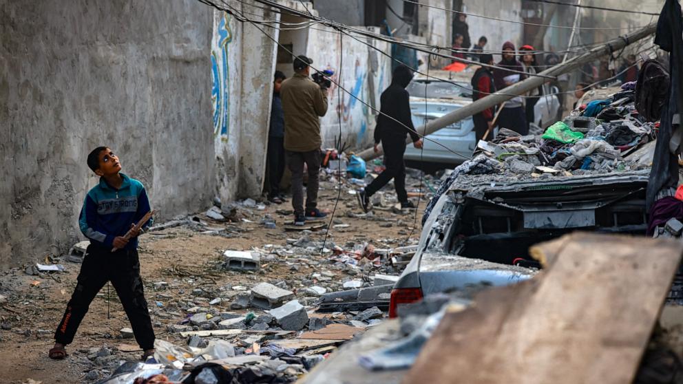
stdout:
[[111,249],[93,244],[85,251],[78,284],[54,332],[54,340],[62,344],[74,341],[76,330],[92,299],[107,281],[112,281],[140,348],[154,348],[154,330],[143,292],[143,280],[140,278],[138,251],[123,249],[111,252]]

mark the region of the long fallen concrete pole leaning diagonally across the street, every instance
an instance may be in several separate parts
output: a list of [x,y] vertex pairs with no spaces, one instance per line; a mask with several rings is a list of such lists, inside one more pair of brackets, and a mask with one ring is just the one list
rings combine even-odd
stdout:
[[[594,47],[592,50],[589,50],[584,54],[581,54],[580,56],[571,58],[570,60],[565,61],[564,63],[560,63],[558,65],[555,65],[554,67],[548,68],[547,70],[540,72],[540,74],[548,76],[560,76],[567,72],[571,72],[572,70],[575,70],[576,68],[580,67],[581,65],[584,65],[589,61],[610,54],[611,52],[618,52],[622,50],[624,47],[627,47],[635,43],[636,41],[640,41],[646,38],[647,36],[650,36],[651,34],[655,33],[656,28],[656,23],[652,23],[650,25],[647,25],[647,27],[645,28],[627,34],[626,36],[620,36],[617,39],[613,39],[603,45],[600,45],[599,47]],[[417,128],[417,131],[419,134],[423,136],[428,136],[443,127],[447,127],[448,125],[463,120],[463,118],[467,118],[474,114],[478,114],[484,109],[488,109],[490,107],[494,107],[495,105],[499,105],[515,96],[523,95],[531,91],[532,89],[535,89],[540,85],[543,85],[545,81],[547,80],[543,77],[533,76],[531,78],[527,78],[524,81],[520,81],[519,83],[510,85],[509,87],[502,89],[501,91],[499,91],[500,94],[496,92],[495,94],[491,94],[489,96],[476,100],[474,103],[470,105],[462,107],[456,111],[452,111],[450,114],[446,114],[444,116],[441,116],[440,118],[432,120],[428,122],[427,125],[421,125]],[[412,141],[410,140],[410,138],[408,138],[406,142],[410,144],[410,142]],[[375,152],[373,148],[369,148],[364,151],[361,151],[360,153],[357,153],[357,156],[360,156],[364,160],[371,160],[373,158],[376,158],[377,156],[381,156],[383,153],[383,149],[380,145],[378,152]],[[453,156],[458,155],[453,154]]]

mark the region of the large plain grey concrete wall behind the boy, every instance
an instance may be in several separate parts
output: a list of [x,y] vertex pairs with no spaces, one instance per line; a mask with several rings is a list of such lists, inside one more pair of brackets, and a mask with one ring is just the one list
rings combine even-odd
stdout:
[[211,10],[193,0],[0,0],[0,268],[67,250],[108,145],[160,219],[215,191]]

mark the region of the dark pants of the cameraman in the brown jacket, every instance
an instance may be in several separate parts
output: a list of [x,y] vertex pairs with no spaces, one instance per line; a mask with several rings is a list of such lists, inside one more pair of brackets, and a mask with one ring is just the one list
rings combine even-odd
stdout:
[[[322,156],[320,150],[308,152],[286,151],[287,167],[292,171],[292,208],[295,215],[304,215],[318,205],[318,173]],[[308,168],[306,211],[304,212],[304,163]]]

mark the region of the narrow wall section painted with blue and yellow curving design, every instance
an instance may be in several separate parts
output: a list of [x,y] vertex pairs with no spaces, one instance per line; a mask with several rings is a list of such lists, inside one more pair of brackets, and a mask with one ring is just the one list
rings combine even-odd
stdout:
[[[249,17],[277,20],[275,13],[238,7]],[[264,29],[277,40],[276,29]],[[213,14],[213,142],[224,201],[261,194],[276,52],[275,43],[251,23],[225,12]]]

